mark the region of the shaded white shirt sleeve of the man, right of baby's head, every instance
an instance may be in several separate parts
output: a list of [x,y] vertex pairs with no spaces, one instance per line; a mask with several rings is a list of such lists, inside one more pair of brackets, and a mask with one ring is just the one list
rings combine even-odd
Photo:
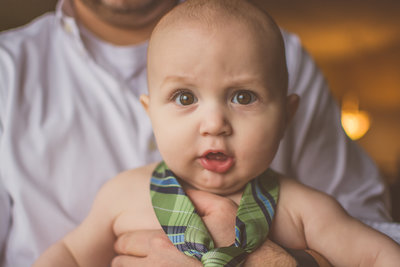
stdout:
[[297,36],[282,32],[288,90],[300,96],[300,104],[273,167],[334,196],[357,218],[391,220],[388,192],[376,165],[344,133],[326,80]]

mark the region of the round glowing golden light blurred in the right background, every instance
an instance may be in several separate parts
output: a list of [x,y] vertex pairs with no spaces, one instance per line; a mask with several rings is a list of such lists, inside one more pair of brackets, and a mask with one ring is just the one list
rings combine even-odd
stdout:
[[358,105],[358,99],[353,95],[346,95],[343,98],[342,126],[352,140],[363,137],[371,125],[369,114],[359,110]]

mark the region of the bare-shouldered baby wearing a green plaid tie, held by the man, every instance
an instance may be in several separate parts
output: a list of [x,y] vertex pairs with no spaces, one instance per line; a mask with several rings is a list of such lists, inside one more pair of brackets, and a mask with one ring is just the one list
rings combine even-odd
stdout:
[[[36,266],[109,266],[117,236],[160,228],[205,266],[241,265],[266,238],[335,266],[398,266],[394,241],[268,168],[299,101],[287,81],[283,40],[267,14],[240,0],[178,5],[152,34],[141,97],[164,162],[110,180]],[[239,205],[228,242],[214,242],[185,193],[193,190]]]

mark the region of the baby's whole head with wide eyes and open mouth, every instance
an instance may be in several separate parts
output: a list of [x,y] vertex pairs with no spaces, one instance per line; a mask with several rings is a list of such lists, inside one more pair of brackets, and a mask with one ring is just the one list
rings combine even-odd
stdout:
[[188,0],[149,43],[141,100],[167,165],[188,185],[240,190],[271,163],[298,98],[279,28],[244,0]]

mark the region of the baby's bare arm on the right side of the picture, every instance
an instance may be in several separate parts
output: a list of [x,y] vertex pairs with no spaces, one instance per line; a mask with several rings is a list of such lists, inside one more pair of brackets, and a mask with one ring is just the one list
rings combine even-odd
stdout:
[[281,179],[271,238],[296,249],[312,249],[334,266],[398,266],[400,246],[350,217],[332,197]]

